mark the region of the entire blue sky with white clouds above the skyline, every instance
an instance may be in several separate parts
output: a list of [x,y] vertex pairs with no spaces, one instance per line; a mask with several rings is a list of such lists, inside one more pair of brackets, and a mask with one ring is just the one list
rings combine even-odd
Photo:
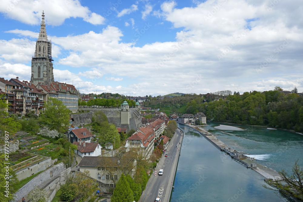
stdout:
[[301,0],[5,0],[0,76],[30,80],[45,13],[55,81],[82,93],[303,91]]

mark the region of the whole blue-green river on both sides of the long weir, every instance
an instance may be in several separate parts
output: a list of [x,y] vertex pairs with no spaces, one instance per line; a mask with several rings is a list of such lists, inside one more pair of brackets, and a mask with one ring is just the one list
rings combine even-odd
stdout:
[[[229,147],[255,155],[258,163],[277,171],[291,171],[294,161],[303,159],[303,135],[242,125],[237,127],[244,131],[222,131],[214,128],[219,124],[208,124],[204,128]],[[171,202],[285,201],[262,187],[265,182],[260,174],[231,159],[198,132],[179,127],[184,139]]]

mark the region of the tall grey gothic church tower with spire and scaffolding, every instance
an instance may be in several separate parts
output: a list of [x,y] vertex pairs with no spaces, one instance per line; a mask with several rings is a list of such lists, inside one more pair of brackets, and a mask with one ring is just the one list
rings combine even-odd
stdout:
[[35,55],[32,57],[31,82],[35,86],[38,83],[48,85],[54,82],[52,61],[52,42],[47,39],[44,12],[42,12],[40,33],[36,41]]

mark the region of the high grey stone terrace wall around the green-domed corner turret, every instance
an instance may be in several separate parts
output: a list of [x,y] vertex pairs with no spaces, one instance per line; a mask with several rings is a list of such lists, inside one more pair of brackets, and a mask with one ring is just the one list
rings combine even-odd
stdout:
[[138,130],[142,126],[142,117],[138,108],[129,109],[129,124],[121,124],[121,109],[103,109],[103,108],[88,108],[89,111],[102,111],[107,119],[108,123],[115,124],[116,127],[127,128],[127,132],[130,129]]

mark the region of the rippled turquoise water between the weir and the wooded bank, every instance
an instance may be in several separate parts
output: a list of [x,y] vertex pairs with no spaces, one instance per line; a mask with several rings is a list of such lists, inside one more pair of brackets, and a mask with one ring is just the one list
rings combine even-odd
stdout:
[[[270,130],[266,127],[231,125],[241,127],[244,131],[218,130],[219,123],[208,122],[206,130],[229,147],[251,154],[257,163],[276,171],[284,169],[291,173],[295,161],[303,166],[303,135],[283,130]],[[227,125],[227,124],[224,124]]]

